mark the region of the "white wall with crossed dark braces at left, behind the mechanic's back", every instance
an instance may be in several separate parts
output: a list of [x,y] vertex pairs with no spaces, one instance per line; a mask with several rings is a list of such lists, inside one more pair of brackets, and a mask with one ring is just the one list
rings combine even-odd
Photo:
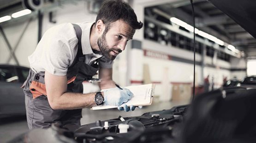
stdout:
[[[9,43],[14,49],[14,46],[17,44],[20,35],[22,34],[25,25],[27,22],[12,24],[9,27],[4,27],[3,30],[6,34],[6,37]],[[37,21],[33,20],[30,22],[29,27],[25,31],[23,37],[21,38],[20,43],[15,51],[15,55],[18,59],[18,62],[21,66],[29,66],[28,56],[32,54],[32,52],[36,48],[37,44],[37,30],[36,27]],[[10,52],[6,45],[6,41],[3,39],[3,35],[0,34],[0,64],[11,64],[16,65],[15,61],[12,59],[8,62],[10,57]]]

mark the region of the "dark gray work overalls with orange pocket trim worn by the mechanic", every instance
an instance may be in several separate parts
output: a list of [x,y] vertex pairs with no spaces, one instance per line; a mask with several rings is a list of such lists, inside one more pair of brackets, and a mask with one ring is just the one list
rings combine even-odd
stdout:
[[[77,55],[67,71],[67,92],[83,93],[83,81],[88,81],[99,70],[98,62],[92,62],[92,65],[84,63],[84,55],[81,46],[81,28],[73,24],[77,38]],[[52,123],[59,122],[62,126],[75,130],[80,126],[82,109],[76,110],[53,110],[47,99],[44,72],[35,73],[30,69],[27,80],[24,82],[25,104],[27,112],[27,122],[29,129],[47,128]]]

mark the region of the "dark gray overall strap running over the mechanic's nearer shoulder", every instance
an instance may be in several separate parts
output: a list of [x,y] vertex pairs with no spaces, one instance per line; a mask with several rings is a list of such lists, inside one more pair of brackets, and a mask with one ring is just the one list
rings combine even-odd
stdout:
[[78,49],[77,49],[76,58],[75,58],[75,60],[73,61],[72,65],[70,67],[74,66],[74,64],[77,63],[77,61],[84,62],[84,56],[83,56],[82,44],[81,44],[82,29],[77,24],[72,23],[72,25],[73,25],[73,27],[76,31],[76,35],[77,35],[77,39],[78,39],[78,43],[77,43]]

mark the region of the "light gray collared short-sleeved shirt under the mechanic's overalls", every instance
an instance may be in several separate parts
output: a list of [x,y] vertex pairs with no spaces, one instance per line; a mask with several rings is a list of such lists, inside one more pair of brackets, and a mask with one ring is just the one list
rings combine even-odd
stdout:
[[[113,60],[107,60],[104,56],[92,51],[89,42],[90,28],[93,22],[77,23],[82,29],[82,51],[85,63],[91,64],[99,59],[100,68],[112,68]],[[36,50],[30,55],[30,67],[36,73],[48,71],[56,76],[65,76],[67,69],[77,55],[78,39],[71,23],[64,23],[48,29],[36,46]]]

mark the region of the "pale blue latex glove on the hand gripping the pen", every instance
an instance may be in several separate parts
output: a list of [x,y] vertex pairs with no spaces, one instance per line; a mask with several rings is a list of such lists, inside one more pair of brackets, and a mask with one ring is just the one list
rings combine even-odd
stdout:
[[112,106],[119,106],[123,103],[126,103],[128,100],[130,100],[133,96],[133,93],[127,89],[119,89],[119,88],[112,88],[106,91],[103,91],[104,93],[104,104],[105,105],[112,105]]

